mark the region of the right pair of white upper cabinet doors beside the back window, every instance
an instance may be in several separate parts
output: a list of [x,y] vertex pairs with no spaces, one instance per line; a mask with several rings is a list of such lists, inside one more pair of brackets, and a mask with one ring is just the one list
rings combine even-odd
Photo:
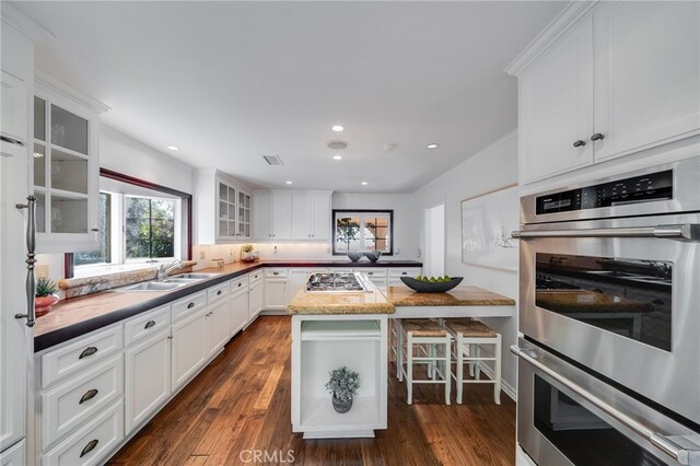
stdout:
[[330,193],[292,195],[292,240],[330,240]]

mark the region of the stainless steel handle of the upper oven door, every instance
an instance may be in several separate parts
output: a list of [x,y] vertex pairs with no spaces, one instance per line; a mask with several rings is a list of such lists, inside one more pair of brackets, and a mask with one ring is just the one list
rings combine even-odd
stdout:
[[630,226],[618,229],[581,230],[516,230],[514,238],[530,237],[661,237],[666,240],[697,241],[700,238],[700,224]]

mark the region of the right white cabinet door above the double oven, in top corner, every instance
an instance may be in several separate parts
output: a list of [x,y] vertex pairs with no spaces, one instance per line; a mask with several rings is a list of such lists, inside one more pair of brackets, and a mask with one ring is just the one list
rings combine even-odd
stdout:
[[602,2],[594,10],[595,161],[700,129],[700,3]]

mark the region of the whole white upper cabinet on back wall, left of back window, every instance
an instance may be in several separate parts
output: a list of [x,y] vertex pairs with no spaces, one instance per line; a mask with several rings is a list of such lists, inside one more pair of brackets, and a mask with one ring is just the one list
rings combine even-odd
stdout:
[[256,191],[253,238],[330,240],[329,191]]

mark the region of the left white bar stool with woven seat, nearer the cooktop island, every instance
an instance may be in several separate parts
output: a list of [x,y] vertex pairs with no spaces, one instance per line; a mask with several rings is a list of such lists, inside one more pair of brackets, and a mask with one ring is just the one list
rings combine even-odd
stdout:
[[[450,405],[452,337],[440,324],[430,319],[401,319],[398,327],[400,361],[400,364],[397,365],[398,380],[402,381],[406,377],[406,403],[410,405],[413,401],[413,384],[443,384],[445,385],[445,404]],[[406,341],[406,347],[401,345],[401,340]],[[416,348],[422,356],[413,354]],[[406,368],[404,368],[404,361],[406,361]],[[442,370],[440,369],[441,362]],[[429,378],[413,378],[413,364],[428,364]],[[438,375],[440,375],[440,380],[438,380]]]

